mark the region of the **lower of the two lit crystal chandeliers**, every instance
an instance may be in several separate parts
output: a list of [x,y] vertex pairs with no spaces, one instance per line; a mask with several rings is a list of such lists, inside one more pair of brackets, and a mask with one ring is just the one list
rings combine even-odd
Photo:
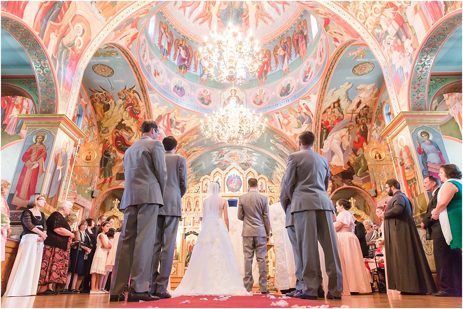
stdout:
[[214,112],[200,121],[200,130],[207,137],[217,142],[232,142],[235,145],[246,145],[251,138],[259,138],[265,131],[267,119],[252,113],[231,99],[225,108]]

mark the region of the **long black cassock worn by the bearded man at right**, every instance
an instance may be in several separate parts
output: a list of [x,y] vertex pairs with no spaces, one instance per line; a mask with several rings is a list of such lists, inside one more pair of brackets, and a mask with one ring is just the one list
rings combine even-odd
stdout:
[[384,212],[388,288],[408,293],[434,293],[436,284],[413,222],[410,200],[395,192]]

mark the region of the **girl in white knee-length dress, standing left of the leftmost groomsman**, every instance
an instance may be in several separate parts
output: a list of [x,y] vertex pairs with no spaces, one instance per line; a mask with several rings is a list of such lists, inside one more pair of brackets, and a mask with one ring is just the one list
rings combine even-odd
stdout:
[[96,240],[96,251],[93,257],[90,273],[92,274],[92,290],[90,294],[105,294],[105,292],[98,290],[99,277],[106,275],[106,259],[108,257],[108,249],[111,249],[108,236],[106,233],[109,230],[109,222],[103,222],[98,231],[98,238]]

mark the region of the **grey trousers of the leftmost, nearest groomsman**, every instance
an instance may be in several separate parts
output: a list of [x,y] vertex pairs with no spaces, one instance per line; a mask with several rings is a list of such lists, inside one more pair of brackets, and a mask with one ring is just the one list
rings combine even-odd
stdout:
[[131,205],[124,210],[124,227],[119,236],[111,294],[119,295],[129,283],[137,293],[147,292],[159,204]]

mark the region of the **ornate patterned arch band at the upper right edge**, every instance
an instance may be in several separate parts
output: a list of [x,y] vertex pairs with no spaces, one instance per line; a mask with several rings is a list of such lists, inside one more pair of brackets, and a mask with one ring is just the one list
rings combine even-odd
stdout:
[[444,16],[440,23],[434,25],[421,42],[412,62],[413,69],[410,71],[408,96],[408,109],[410,111],[427,111],[429,79],[431,78],[432,66],[445,41],[462,24],[462,9],[455,10]]

